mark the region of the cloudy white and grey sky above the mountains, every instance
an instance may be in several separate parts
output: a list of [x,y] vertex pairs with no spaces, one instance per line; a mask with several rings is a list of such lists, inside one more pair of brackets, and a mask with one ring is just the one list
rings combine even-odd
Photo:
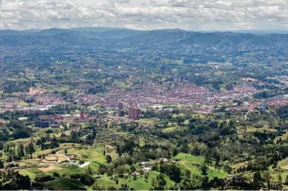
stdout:
[[0,29],[288,29],[288,0],[0,0]]

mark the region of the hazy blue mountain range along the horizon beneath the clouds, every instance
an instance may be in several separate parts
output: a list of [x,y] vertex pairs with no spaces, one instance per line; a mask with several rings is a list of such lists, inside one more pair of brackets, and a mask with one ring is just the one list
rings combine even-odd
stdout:
[[[285,55],[288,47],[288,34],[271,33],[235,33],[195,32],[181,29],[162,29],[138,31],[121,28],[75,28],[45,29],[27,31],[0,31],[1,46],[31,46],[59,49],[97,49],[98,51],[118,52],[128,49],[130,52],[179,52],[183,51],[238,54],[253,52],[252,49],[274,49]],[[252,47],[250,49],[249,47]],[[178,53],[179,54],[179,53]],[[241,53],[242,54],[242,53]],[[275,53],[276,54],[276,53]],[[277,53],[278,54],[278,53]],[[215,56],[214,56],[215,57]],[[262,55],[263,59],[265,55]],[[222,59],[220,59],[222,60]]]

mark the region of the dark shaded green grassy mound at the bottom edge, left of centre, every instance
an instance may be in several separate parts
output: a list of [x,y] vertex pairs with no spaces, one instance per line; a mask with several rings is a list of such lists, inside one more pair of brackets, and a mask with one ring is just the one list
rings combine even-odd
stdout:
[[50,190],[81,190],[84,185],[79,180],[60,179],[43,183]]

